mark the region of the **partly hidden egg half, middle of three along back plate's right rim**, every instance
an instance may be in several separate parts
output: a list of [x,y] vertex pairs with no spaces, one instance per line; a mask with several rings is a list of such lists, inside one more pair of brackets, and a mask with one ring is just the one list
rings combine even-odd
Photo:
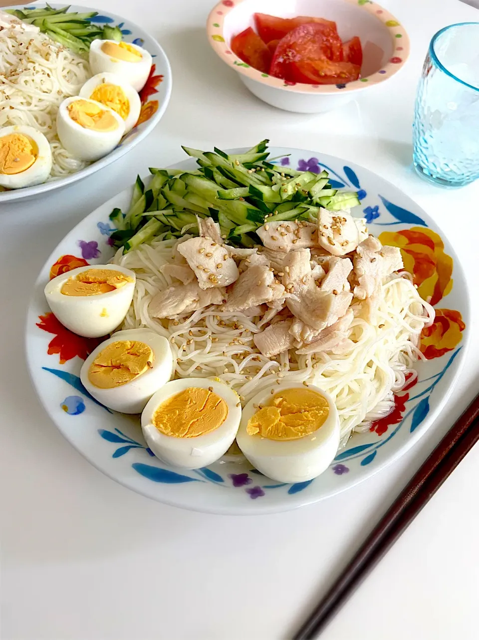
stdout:
[[126,133],[138,122],[142,108],[140,96],[131,84],[117,74],[105,72],[93,76],[83,85],[80,95],[116,111],[125,122]]

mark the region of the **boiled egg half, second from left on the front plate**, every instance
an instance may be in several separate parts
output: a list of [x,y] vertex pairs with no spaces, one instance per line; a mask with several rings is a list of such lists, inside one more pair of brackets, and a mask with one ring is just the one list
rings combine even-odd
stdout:
[[80,380],[99,403],[121,413],[141,413],[170,380],[173,356],[166,338],[150,329],[113,333],[86,358]]

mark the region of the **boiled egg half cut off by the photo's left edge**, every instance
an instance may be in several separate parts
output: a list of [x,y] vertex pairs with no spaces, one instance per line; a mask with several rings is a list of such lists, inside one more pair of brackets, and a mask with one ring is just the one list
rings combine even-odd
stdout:
[[0,186],[19,189],[42,184],[52,168],[52,152],[44,134],[33,127],[0,129]]

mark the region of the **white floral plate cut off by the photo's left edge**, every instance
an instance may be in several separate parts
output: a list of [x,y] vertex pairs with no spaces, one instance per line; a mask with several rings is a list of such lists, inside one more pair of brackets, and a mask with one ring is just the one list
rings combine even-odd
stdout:
[[[25,3],[28,4],[28,3]],[[29,9],[40,8],[46,6],[46,3],[34,3],[28,4]],[[53,9],[61,9],[65,4],[50,4]],[[96,9],[87,6],[77,6],[71,4],[70,11],[72,12],[94,12]],[[4,7],[3,9],[22,9],[22,6]],[[12,200],[28,200],[29,198],[35,198],[42,193],[53,191],[54,189],[60,189],[72,184],[77,180],[86,178],[87,175],[92,175],[100,169],[108,166],[124,156],[129,150],[136,147],[143,138],[149,134],[154,127],[158,124],[166,111],[168,102],[170,102],[170,95],[172,92],[172,72],[170,63],[166,54],[161,49],[160,45],[153,36],[150,36],[146,31],[143,31],[140,27],[133,24],[129,20],[125,20],[115,13],[108,12],[108,15],[99,13],[90,22],[98,24],[98,26],[104,26],[105,24],[111,24],[112,26],[119,26],[122,30],[123,39],[125,42],[133,42],[133,44],[140,45],[150,52],[153,58],[152,70],[147,83],[140,92],[140,99],[142,100],[142,110],[140,111],[140,118],[138,124],[122,138],[120,143],[108,156],[102,157],[95,163],[89,164],[76,173],[71,173],[63,178],[50,180],[44,182],[44,184],[37,184],[34,187],[25,187],[23,189],[12,189],[11,191],[0,192],[0,207],[6,202],[12,202]],[[5,209],[8,211],[8,209]]]

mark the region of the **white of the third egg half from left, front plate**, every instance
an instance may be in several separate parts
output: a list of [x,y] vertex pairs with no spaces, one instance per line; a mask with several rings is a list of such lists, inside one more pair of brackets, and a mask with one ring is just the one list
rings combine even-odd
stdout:
[[[153,415],[159,404],[190,387],[202,389],[213,387],[213,392],[222,397],[228,405],[225,421],[214,431],[196,438],[175,438],[160,433],[153,424]],[[236,406],[239,402],[240,398],[232,389],[216,380],[209,378],[172,380],[159,389],[145,406],[142,413],[143,436],[155,456],[168,465],[184,469],[206,467],[221,458],[234,441],[241,419],[241,406]]]

